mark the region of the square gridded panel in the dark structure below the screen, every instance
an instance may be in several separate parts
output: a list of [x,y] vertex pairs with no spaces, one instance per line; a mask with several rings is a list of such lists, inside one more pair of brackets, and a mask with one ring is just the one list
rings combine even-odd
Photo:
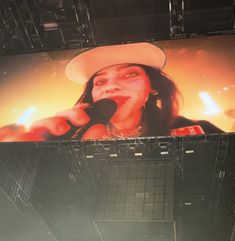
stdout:
[[173,221],[174,178],[172,162],[107,164],[95,220]]

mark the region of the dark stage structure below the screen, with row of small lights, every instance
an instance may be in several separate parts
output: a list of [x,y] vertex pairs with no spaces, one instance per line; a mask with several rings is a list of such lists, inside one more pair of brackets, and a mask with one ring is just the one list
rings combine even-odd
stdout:
[[233,241],[234,137],[1,143],[1,192],[58,241]]

